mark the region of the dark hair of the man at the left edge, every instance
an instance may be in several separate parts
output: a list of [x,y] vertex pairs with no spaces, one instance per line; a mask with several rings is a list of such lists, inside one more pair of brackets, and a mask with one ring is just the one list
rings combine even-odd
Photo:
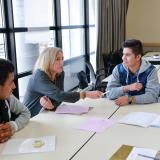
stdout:
[[9,73],[13,72],[13,64],[9,60],[0,58],[0,85],[3,86],[8,78]]

